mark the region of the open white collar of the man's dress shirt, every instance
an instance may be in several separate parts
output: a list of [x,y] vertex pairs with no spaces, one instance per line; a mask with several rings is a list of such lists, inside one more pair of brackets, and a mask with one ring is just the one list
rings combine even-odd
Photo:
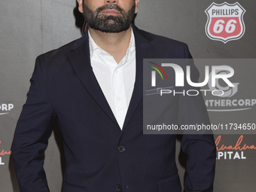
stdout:
[[[99,47],[98,44],[96,44],[96,42],[90,36],[90,31],[89,30],[88,30],[88,36],[89,36],[90,58],[92,58],[93,53],[94,53],[95,50],[100,50],[100,53],[111,56],[107,51],[102,50],[102,48]],[[130,44],[129,44],[128,49],[126,50],[126,56],[133,53],[134,50],[135,50],[135,38],[134,38],[134,34],[133,34],[133,28],[131,28]]]

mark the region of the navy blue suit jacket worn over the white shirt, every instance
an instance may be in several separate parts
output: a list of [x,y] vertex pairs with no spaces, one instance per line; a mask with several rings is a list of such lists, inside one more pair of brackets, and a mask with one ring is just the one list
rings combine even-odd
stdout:
[[[136,83],[123,130],[90,66],[88,34],[38,56],[28,99],[17,123],[13,157],[22,192],[47,192],[39,155],[47,148],[53,120],[63,137],[64,192],[178,192],[175,135],[143,135],[142,63],[144,58],[190,58],[187,45],[133,26]],[[194,76],[198,78],[197,72]],[[178,101],[179,120],[209,123],[203,100]],[[177,121],[177,115],[173,120]],[[172,118],[172,117],[171,117]],[[120,147],[121,146],[121,147]],[[215,143],[212,135],[184,135],[188,154],[186,191],[212,191]]]

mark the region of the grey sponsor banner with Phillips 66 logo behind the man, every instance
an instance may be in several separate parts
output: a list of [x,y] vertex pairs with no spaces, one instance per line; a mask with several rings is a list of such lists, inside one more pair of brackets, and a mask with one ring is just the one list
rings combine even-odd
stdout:
[[[205,59],[205,65],[195,64],[201,72],[200,82],[206,75],[209,78],[202,92],[212,127],[226,130],[215,132],[218,192],[256,188],[255,8],[252,0],[142,0],[135,20],[140,29],[187,43],[195,61]],[[1,0],[0,23],[0,191],[17,192],[11,145],[35,57],[81,37],[83,17],[75,0]],[[226,80],[233,86],[215,81],[215,89],[221,92],[213,90],[212,66],[224,66],[215,70],[215,80],[216,75],[231,73]],[[226,70],[229,67],[233,74]],[[187,157],[180,140],[178,137],[176,156],[183,182]],[[55,124],[44,157],[50,190],[61,191],[65,162]]]

